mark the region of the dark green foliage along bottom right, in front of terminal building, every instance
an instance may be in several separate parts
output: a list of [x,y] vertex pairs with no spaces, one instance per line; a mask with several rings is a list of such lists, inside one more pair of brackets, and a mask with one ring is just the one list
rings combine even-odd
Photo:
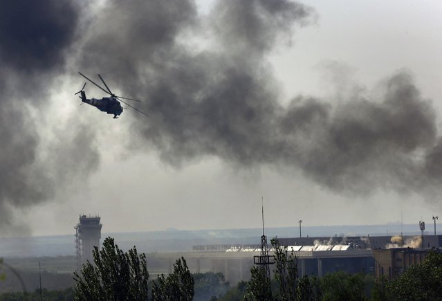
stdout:
[[[277,241],[272,242],[274,247],[277,246]],[[304,275],[290,280],[288,271],[291,268],[293,275],[296,275],[291,258],[295,262],[295,257],[275,252],[273,294],[266,299],[257,298],[262,289],[258,281],[261,273],[254,267],[251,269],[250,282],[240,282],[218,300],[442,300],[442,253],[439,252],[430,251],[422,264],[409,267],[394,280],[383,278],[376,283],[373,275],[351,275],[342,271],[321,278]],[[244,290],[245,286],[247,291]],[[295,296],[287,286],[295,288]],[[256,295],[250,294],[252,289],[257,290]]]

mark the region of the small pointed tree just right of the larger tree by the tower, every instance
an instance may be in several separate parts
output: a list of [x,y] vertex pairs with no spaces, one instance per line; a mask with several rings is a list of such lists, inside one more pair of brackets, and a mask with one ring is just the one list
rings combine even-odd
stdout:
[[177,259],[174,272],[165,277],[158,276],[152,287],[152,300],[155,301],[187,301],[194,298],[194,279],[187,267],[184,257]]

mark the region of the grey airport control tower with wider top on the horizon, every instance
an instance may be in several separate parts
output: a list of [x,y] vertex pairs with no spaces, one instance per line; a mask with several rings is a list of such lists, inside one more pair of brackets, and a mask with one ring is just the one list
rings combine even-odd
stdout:
[[77,271],[80,271],[84,262],[93,262],[92,250],[94,246],[100,247],[101,227],[98,215],[80,215],[80,223],[74,227]]

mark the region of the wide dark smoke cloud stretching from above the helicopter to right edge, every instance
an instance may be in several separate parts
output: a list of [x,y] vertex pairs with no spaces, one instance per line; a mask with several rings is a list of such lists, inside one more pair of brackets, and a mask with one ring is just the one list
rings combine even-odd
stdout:
[[[352,195],[436,187],[436,116],[407,72],[392,75],[379,99],[353,93],[337,107],[302,96],[280,104],[267,57],[313,21],[314,10],[293,1],[218,1],[205,20],[192,1],[111,1],[93,22],[80,66],[147,100],[139,108],[149,118],[133,115],[134,145],[172,165],[216,156],[239,167],[302,170]],[[213,48],[182,43],[201,31]]]

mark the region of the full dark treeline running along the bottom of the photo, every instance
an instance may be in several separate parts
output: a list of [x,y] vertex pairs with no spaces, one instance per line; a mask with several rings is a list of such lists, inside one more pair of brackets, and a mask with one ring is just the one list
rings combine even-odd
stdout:
[[[442,300],[442,254],[435,251],[403,275],[376,282],[374,275],[336,272],[300,277],[295,253],[272,239],[275,269],[266,277],[263,266],[251,269],[248,282],[230,287],[221,273],[191,274],[185,259],[176,260],[171,274],[149,279],[145,255],[136,248],[122,252],[113,239],[95,248],[94,265],[75,274],[73,289],[42,291],[43,300]],[[0,280],[0,285],[1,285]],[[4,281],[4,280],[3,280]],[[0,300],[39,300],[39,290],[3,293]]]

